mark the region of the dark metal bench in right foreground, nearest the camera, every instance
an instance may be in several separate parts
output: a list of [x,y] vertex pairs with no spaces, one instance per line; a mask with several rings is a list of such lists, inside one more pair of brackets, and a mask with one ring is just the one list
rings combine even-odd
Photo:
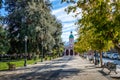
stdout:
[[117,64],[114,64],[112,62],[107,62],[107,63],[104,63],[104,65],[102,66],[102,71],[104,70],[104,68],[107,68],[110,72],[108,74],[111,73],[111,71],[114,71],[116,74],[116,67],[117,67]]

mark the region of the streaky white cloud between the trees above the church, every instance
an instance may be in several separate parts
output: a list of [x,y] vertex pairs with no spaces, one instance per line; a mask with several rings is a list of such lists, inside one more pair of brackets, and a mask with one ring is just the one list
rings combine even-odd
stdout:
[[[51,1],[55,1],[55,0],[51,0]],[[57,4],[56,4],[57,5]],[[65,8],[67,8],[68,5],[66,6],[62,6],[61,8],[57,8],[57,9],[53,9],[52,10],[52,14],[55,15],[57,17],[58,20],[60,20],[62,22],[63,28],[62,28],[62,39],[65,42],[69,41],[69,35],[70,32],[73,32],[73,35],[77,34],[76,32],[76,25],[74,24],[77,20],[77,18],[73,17],[75,15],[75,13],[70,13],[67,14],[67,12],[65,12]],[[79,18],[81,16],[78,16]],[[77,38],[77,36],[75,36],[75,39]]]

